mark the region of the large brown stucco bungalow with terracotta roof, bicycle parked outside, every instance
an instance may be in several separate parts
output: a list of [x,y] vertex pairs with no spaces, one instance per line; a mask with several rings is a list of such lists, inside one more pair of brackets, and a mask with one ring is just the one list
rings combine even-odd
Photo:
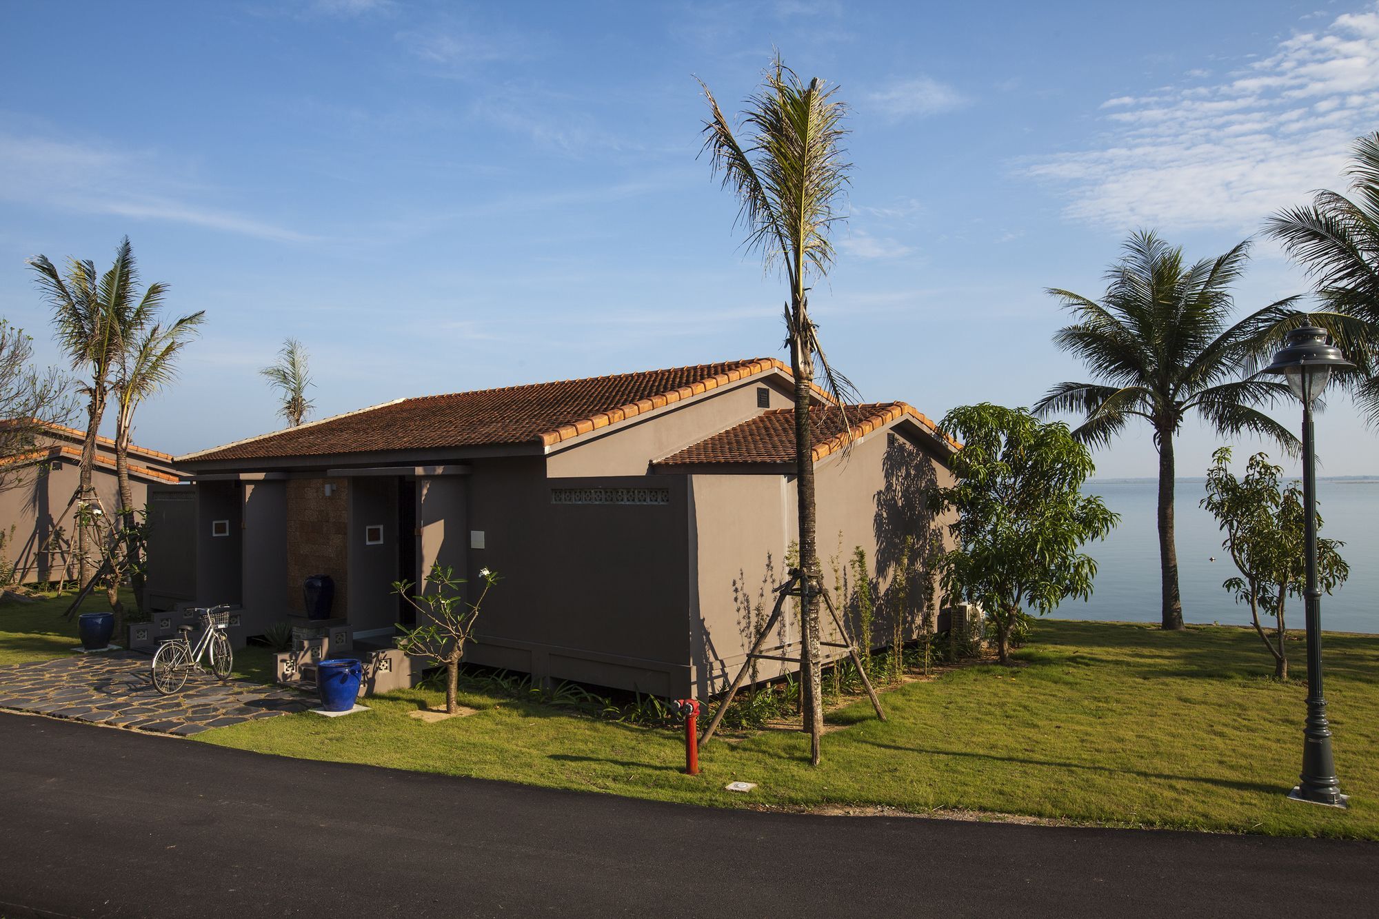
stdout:
[[[237,603],[252,635],[303,615],[303,581],[328,574],[346,639],[390,644],[415,621],[393,581],[487,567],[502,581],[466,660],[703,695],[741,666],[786,577],[792,393],[779,360],[739,360],[401,399],[179,457],[194,502],[150,494],[150,517],[185,526],[153,528],[150,606]],[[895,402],[849,406],[844,451],[837,411],[832,428],[822,397],[814,411],[825,580],[841,540],[885,596],[906,535],[945,538],[924,488],[949,482],[952,447]],[[932,610],[932,580],[910,596]]]

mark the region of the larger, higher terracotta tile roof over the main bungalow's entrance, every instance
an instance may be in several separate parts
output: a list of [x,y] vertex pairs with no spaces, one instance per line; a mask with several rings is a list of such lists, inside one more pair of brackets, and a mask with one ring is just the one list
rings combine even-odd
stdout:
[[771,370],[774,357],[422,396],[179,457],[178,462],[321,457],[563,440]]

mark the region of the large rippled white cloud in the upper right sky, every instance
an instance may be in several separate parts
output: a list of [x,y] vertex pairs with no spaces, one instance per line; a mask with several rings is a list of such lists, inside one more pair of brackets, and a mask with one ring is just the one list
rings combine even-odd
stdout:
[[1343,184],[1354,138],[1379,124],[1379,10],[1249,57],[1216,83],[1109,99],[1098,146],[1022,170],[1063,186],[1074,219],[1252,232]]

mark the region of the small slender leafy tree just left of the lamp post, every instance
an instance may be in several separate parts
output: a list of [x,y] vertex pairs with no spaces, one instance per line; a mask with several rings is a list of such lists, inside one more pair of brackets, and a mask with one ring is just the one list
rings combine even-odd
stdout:
[[[1288,596],[1302,596],[1307,586],[1306,513],[1302,487],[1294,482],[1280,488],[1282,468],[1256,453],[1245,466],[1245,477],[1230,472],[1230,447],[1212,454],[1207,471],[1207,497],[1201,506],[1216,517],[1226,533],[1222,548],[1240,570],[1223,588],[1236,595],[1237,603],[1249,604],[1255,632],[1274,658],[1274,679],[1288,679],[1288,626],[1284,606]],[[1321,528],[1321,515],[1317,515]],[[1317,540],[1317,581],[1327,593],[1345,582],[1350,566],[1340,557],[1343,542]],[[1274,638],[1259,624],[1259,610],[1274,617]]]

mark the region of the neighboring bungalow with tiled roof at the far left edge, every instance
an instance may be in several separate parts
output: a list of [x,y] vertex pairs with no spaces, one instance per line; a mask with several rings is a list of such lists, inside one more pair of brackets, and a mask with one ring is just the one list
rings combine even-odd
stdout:
[[[7,483],[0,488],[0,528],[8,535],[14,527],[6,556],[15,564],[19,584],[65,581],[77,575],[74,498],[81,482],[85,432],[54,424],[41,424],[39,429],[34,448],[6,465]],[[134,506],[143,508],[149,484],[179,480],[170,454],[130,447]],[[114,442],[109,437],[97,437],[92,483],[101,511],[119,511]]]

